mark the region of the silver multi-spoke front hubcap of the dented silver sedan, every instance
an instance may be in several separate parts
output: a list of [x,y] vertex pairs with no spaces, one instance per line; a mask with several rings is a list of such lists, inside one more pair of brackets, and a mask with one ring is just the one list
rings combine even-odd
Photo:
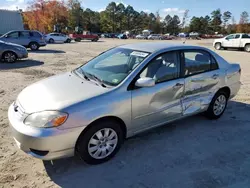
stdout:
[[111,128],[97,131],[89,140],[88,152],[95,159],[103,159],[109,156],[118,143],[118,136]]

